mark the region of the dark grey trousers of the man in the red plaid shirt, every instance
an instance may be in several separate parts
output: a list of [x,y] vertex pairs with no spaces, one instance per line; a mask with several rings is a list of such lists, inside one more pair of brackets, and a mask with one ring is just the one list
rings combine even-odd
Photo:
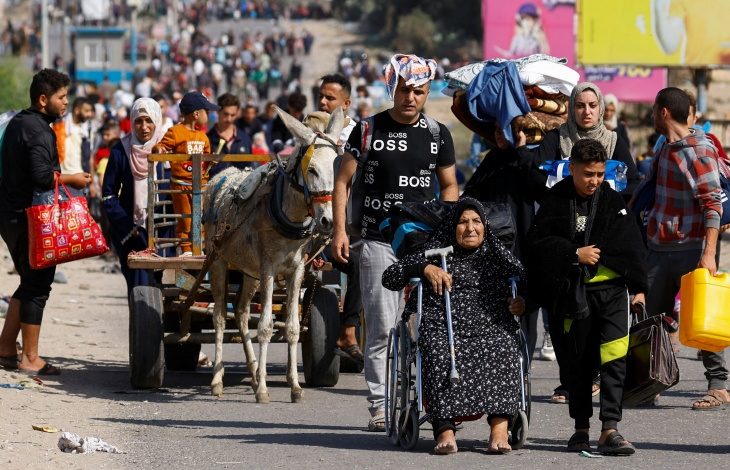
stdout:
[[[649,315],[674,310],[674,297],[679,292],[682,276],[697,267],[702,256],[701,249],[686,251],[654,251],[649,249],[649,292],[646,296],[646,310]],[[681,320],[680,320],[681,321]],[[714,353],[702,351],[702,363],[708,389],[724,389],[728,371],[725,367],[724,351]]]

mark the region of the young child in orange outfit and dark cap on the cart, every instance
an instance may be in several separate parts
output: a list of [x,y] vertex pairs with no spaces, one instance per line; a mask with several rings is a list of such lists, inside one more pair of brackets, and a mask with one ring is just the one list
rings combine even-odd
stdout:
[[[188,155],[210,153],[210,141],[204,132],[197,130],[197,126],[208,123],[208,111],[218,111],[220,108],[208,101],[199,91],[186,93],[180,100],[180,122],[167,130],[162,140],[155,146],[158,153],[186,153]],[[193,165],[190,161],[172,162],[171,189],[190,190],[193,184]],[[205,177],[207,165],[203,165],[201,183],[207,182]],[[172,207],[176,214],[190,214],[192,212],[192,194],[173,194]],[[190,218],[181,218],[177,221],[177,237],[180,242],[181,256],[191,256]]]

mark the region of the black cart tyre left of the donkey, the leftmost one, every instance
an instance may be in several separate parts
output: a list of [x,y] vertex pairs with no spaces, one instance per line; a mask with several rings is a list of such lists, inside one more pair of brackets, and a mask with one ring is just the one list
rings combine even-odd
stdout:
[[137,286],[129,299],[129,369],[133,388],[159,388],[165,376],[162,291]]

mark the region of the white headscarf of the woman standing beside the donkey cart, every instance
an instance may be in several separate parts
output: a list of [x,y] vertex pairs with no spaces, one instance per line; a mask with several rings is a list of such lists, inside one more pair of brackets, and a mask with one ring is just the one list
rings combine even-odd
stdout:
[[[147,116],[155,125],[152,137],[147,142],[140,142],[134,132],[134,122],[140,116]],[[147,221],[147,175],[149,164],[147,156],[152,153],[154,147],[165,135],[162,126],[162,111],[157,101],[152,98],[139,98],[132,104],[130,113],[132,120],[132,132],[122,139],[124,151],[129,157],[129,166],[132,169],[134,178],[134,223],[145,226]]]

